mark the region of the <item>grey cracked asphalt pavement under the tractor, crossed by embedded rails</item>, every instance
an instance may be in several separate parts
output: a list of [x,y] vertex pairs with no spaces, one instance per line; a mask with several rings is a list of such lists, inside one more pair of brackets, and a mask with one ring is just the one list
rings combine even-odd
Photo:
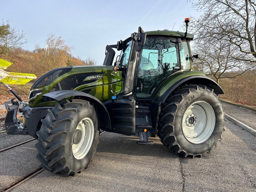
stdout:
[[[154,145],[140,146],[137,137],[107,132],[80,174],[43,171],[13,191],[256,191],[256,137],[230,121],[225,129],[216,149],[194,159],[170,152],[158,137],[150,138]],[[35,142],[0,154],[1,184],[17,171],[37,168]]]

